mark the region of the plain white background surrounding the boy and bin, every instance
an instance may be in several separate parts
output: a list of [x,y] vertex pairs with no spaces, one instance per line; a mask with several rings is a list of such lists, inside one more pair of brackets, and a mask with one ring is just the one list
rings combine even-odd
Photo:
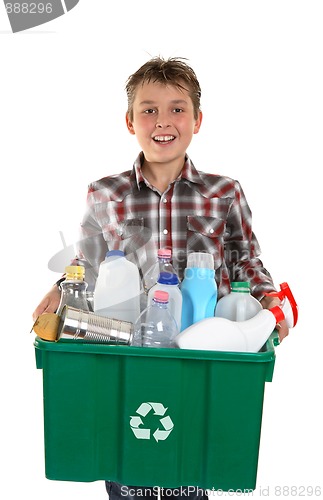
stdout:
[[204,122],[189,154],[198,169],[239,179],[264,264],[299,303],[266,384],[253,497],[322,487],[322,23],[313,0],[80,0],[12,34],[0,4],[2,498],[107,498],[103,482],[44,477],[42,373],[29,332],[64,269],[88,183],[131,168],[139,152],[124,84],[155,55],[186,57],[196,70]]

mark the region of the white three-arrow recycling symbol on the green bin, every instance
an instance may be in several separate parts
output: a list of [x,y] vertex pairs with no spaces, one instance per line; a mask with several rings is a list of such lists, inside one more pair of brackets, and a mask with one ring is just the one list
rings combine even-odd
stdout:
[[[157,442],[165,441],[174,428],[172,419],[168,415],[165,416],[167,409],[162,403],[141,403],[136,415],[130,416],[130,427],[136,438],[151,439],[153,436]],[[145,418],[150,412],[159,417],[154,429],[145,428],[141,418]]]

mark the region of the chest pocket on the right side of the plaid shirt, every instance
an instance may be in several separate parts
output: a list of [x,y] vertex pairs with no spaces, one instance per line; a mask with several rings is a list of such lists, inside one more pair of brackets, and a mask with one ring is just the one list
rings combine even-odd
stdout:
[[199,215],[187,216],[187,253],[207,252],[213,255],[218,269],[224,256],[225,220]]

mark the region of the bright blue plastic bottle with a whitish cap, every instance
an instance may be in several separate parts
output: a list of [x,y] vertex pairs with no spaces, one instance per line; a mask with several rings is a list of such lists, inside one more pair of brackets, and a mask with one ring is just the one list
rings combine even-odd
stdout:
[[188,255],[184,279],[181,330],[205,318],[213,317],[217,301],[214,260],[209,253]]

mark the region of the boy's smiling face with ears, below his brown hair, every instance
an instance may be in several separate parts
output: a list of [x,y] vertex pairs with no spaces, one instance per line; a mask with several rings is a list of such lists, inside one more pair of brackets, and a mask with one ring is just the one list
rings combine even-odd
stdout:
[[202,113],[194,117],[192,99],[184,89],[162,83],[144,83],[137,88],[133,119],[127,127],[136,135],[145,161],[182,167],[193,134],[200,129]]

